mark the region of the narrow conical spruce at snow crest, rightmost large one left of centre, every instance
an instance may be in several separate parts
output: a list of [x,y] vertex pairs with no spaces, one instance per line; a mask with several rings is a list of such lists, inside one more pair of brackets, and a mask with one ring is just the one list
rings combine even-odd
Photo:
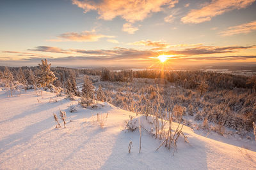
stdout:
[[84,108],[93,104],[94,86],[88,76],[84,76],[84,85],[81,94],[81,105]]

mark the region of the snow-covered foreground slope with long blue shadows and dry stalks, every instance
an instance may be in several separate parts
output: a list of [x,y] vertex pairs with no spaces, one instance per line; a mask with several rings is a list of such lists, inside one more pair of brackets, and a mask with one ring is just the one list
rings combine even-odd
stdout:
[[[125,129],[125,120],[136,114],[108,103],[99,102],[97,109],[77,107],[70,113],[68,107],[77,102],[51,92],[40,97],[32,90],[20,97],[6,96],[0,91],[0,169],[256,168],[256,152],[205,138],[185,126],[182,131],[189,144],[180,138],[174,155],[164,146],[156,152],[161,141],[143,129],[138,153],[139,130]],[[60,110],[67,112],[66,129],[60,118],[61,128],[55,128],[52,113],[59,117]]]

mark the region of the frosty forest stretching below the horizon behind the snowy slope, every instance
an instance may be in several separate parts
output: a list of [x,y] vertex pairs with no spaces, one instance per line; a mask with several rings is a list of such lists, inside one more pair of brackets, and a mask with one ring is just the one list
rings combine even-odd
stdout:
[[80,96],[84,107],[96,99],[141,115],[166,115],[180,107],[184,124],[202,128],[209,122],[211,130],[221,135],[225,133],[221,129],[229,127],[246,136],[256,122],[255,75],[146,69],[97,71],[51,67],[42,60],[36,67],[0,67],[0,79],[10,96],[15,90],[44,89],[71,99]]

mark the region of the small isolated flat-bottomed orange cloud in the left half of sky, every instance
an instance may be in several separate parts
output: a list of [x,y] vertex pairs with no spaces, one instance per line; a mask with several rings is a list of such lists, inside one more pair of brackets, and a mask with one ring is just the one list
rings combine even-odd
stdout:
[[95,30],[93,31],[83,31],[83,32],[66,32],[57,36],[58,39],[50,39],[49,41],[99,41],[100,38],[115,38],[115,36],[106,36],[103,34],[97,34]]

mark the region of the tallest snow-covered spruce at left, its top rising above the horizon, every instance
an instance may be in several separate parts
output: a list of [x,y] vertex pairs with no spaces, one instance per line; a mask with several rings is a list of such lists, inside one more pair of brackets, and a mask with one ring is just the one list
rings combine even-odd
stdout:
[[49,87],[50,83],[56,80],[56,76],[51,71],[51,64],[47,64],[47,59],[42,60],[42,64],[38,64],[40,67],[39,85],[40,87]]

